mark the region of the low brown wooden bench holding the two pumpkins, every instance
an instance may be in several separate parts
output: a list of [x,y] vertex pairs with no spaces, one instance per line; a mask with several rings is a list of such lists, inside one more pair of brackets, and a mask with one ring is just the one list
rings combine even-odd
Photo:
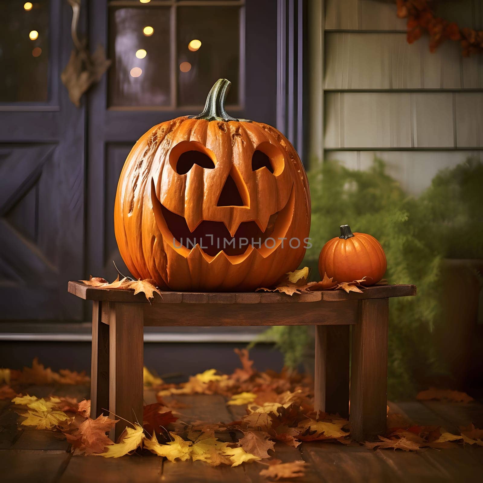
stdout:
[[[416,294],[414,285],[381,285],[289,297],[279,293],[163,292],[144,294],[69,282],[93,301],[91,417],[109,409],[142,424],[143,327],[313,325],[315,410],[349,415],[349,328],[352,328],[350,423],[355,440],[386,429],[389,298]],[[124,430],[121,420],[115,437]]]

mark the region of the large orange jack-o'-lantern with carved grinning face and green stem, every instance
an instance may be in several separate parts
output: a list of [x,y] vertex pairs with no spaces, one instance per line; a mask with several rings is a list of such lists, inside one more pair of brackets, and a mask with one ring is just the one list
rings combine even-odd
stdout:
[[310,228],[307,177],[275,128],[230,117],[230,83],[204,111],[158,124],[119,178],[117,244],[137,278],[174,290],[253,290],[295,270]]

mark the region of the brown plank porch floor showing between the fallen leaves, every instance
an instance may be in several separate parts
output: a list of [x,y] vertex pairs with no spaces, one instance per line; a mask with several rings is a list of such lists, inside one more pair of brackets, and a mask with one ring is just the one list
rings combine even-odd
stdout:
[[[52,395],[52,386],[35,386],[29,394]],[[88,398],[88,388],[63,386],[58,396]],[[145,391],[145,404],[156,402],[154,391]],[[227,406],[222,396],[176,396],[188,404],[184,420],[231,421],[244,414],[244,406]],[[419,425],[440,425],[451,432],[457,426],[474,423],[483,427],[483,405],[418,401],[390,403],[394,412],[406,415]],[[186,416],[186,417],[185,417]],[[243,464],[236,468],[196,462],[170,463],[155,455],[103,458],[72,456],[66,440],[47,430],[17,426],[17,414],[9,401],[0,401],[0,480],[9,483],[87,483],[87,482],[267,482],[259,476],[265,466]],[[483,448],[427,449],[418,453],[400,450],[369,450],[340,443],[304,442],[298,448],[276,443],[276,457],[284,462],[303,460],[306,476],[291,481],[314,482],[446,482],[483,481]]]

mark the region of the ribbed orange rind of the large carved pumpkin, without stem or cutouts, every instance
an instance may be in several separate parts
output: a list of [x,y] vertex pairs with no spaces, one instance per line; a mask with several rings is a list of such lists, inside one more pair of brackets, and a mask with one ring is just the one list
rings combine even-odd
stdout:
[[[235,134],[233,142],[232,134]],[[247,186],[250,202],[247,202],[246,196],[243,201],[250,208],[226,207],[225,210],[225,207],[215,206],[223,186],[219,179],[220,169],[215,168],[214,178],[210,176],[213,175],[211,170],[205,170],[201,175],[196,167],[187,175],[174,173],[168,162],[170,150],[181,140],[196,140],[209,149],[213,144],[213,148],[216,147],[213,152],[216,151],[218,161],[223,162],[223,176],[230,169],[235,169],[230,166],[237,167],[240,176],[236,180],[241,180]],[[273,180],[268,177],[267,187],[261,190],[258,174],[253,174],[249,169],[250,157],[256,146],[251,149],[248,146],[247,149],[247,143],[253,145],[257,142],[269,142],[284,156],[284,170],[276,177],[277,181],[275,177]],[[218,285],[219,290],[227,290],[236,288],[238,284],[240,289],[250,290],[262,281],[274,283],[282,274],[281,270],[297,268],[295,263],[299,263],[305,249],[282,249],[280,246],[266,257],[252,249],[252,253],[246,257],[247,263],[240,262],[238,265],[232,263],[223,252],[219,254],[219,258],[209,263],[206,254],[198,247],[192,252],[193,263],[189,266],[186,257],[171,246],[172,241],[163,238],[156,223],[154,206],[149,202],[152,180],[155,184],[153,203],[155,200],[162,200],[173,213],[184,216],[186,212],[188,218],[189,210],[199,212],[198,207],[201,206],[202,219],[224,221],[231,227],[231,231],[241,221],[259,218],[258,213],[261,214],[260,217],[268,216],[269,219],[272,213],[280,212],[286,204],[285,200],[289,199],[291,190],[295,189],[294,205],[291,208],[292,222],[290,226],[284,224],[286,234],[283,236],[290,239],[298,235],[303,245],[303,237],[309,235],[310,227],[310,206],[306,199],[308,193],[304,185],[303,168],[291,144],[274,128],[264,129],[258,123],[246,124],[238,121],[192,121],[183,116],[151,129],[131,150],[120,177],[114,221],[116,239],[119,240],[121,255],[133,274],[142,278],[152,277],[158,284],[166,283],[173,287],[176,285],[178,289],[204,289],[206,286],[211,288]],[[174,207],[179,209],[173,209]],[[197,217],[200,218],[199,215]],[[194,223],[190,228],[193,225]],[[288,240],[286,242],[288,244]],[[210,278],[211,272],[213,279]]]

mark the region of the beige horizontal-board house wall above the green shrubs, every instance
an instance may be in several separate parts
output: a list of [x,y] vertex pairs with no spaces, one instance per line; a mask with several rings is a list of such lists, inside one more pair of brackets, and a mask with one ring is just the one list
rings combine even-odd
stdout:
[[[483,159],[483,55],[463,58],[451,41],[431,54],[427,36],[408,44],[395,3],[312,0],[310,8],[310,90],[320,99],[311,102],[312,165],[339,159],[365,169],[378,156],[418,194],[438,170]],[[440,1],[438,14],[483,28],[483,0]]]

